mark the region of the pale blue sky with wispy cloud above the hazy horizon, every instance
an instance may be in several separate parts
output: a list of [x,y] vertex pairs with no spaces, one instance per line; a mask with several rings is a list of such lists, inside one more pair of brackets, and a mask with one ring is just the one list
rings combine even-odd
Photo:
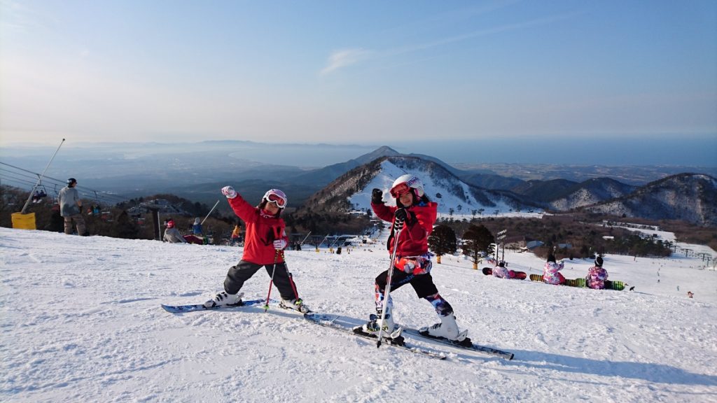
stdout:
[[0,136],[515,153],[657,136],[714,160],[716,44],[713,0],[0,0]]

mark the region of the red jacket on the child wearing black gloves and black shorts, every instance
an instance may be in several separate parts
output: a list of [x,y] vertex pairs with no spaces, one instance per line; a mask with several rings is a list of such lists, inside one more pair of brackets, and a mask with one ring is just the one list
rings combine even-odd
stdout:
[[[374,209],[376,217],[390,222],[391,225],[393,225],[394,213],[398,207],[389,207],[383,203],[371,203],[371,209]],[[428,252],[428,236],[433,231],[433,224],[436,222],[438,204],[433,201],[429,201],[429,203],[425,205],[414,205],[408,207],[406,210],[409,213],[415,214],[416,219],[409,219],[404,224],[401,234],[399,235],[399,245],[396,256],[404,257],[424,255]],[[389,237],[389,253],[393,253],[395,242],[393,237],[393,229],[391,229],[391,236]]]

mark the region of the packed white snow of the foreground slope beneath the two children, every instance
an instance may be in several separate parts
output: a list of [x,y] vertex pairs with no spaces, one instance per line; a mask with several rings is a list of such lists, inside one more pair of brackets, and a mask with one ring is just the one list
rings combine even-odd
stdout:
[[[635,287],[614,291],[493,278],[444,256],[432,275],[459,325],[515,359],[414,341],[449,354],[440,361],[280,308],[160,308],[221,290],[240,247],[0,228],[0,250],[3,402],[717,401],[717,272],[698,257],[607,255],[610,278]],[[388,264],[382,242],[286,258],[310,308],[357,324]],[[505,260],[543,265],[530,253]],[[564,275],[591,264],[566,260]],[[268,286],[260,271],[243,291],[265,298]],[[399,323],[437,322],[410,286],[392,295]]]

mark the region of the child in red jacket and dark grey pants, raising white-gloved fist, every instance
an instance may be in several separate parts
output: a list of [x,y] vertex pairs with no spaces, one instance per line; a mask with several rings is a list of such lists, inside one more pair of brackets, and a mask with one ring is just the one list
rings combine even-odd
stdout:
[[206,308],[217,305],[241,305],[244,282],[249,280],[262,266],[271,276],[281,295],[280,305],[285,308],[310,312],[299,298],[291,273],[284,262],[282,252],[287,245],[286,224],[280,218],[286,207],[287,198],[279,189],[270,189],[257,207],[253,207],[232,186],[224,186],[222,194],[227,196],[229,206],[244,220],[244,254],[237,265],[229,267],[224,279],[224,291],[206,301]]

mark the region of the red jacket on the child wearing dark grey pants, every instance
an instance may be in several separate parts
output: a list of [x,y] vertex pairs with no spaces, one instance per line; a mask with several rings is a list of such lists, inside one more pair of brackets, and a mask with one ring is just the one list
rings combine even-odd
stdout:
[[[242,260],[257,265],[273,265],[276,258],[276,250],[273,242],[283,239],[287,243],[284,220],[275,217],[266,217],[258,207],[254,207],[242,196],[237,194],[234,199],[227,199],[229,206],[234,213],[247,224],[244,233],[244,255]],[[279,255],[277,263],[283,262],[282,255]]]

